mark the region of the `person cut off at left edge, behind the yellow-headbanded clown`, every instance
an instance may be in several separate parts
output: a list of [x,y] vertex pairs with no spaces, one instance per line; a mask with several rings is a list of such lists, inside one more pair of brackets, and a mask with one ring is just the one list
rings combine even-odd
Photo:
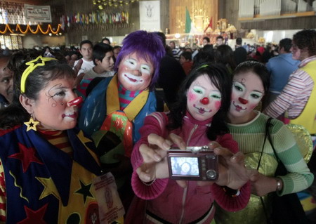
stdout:
[[13,71],[8,68],[10,56],[0,55],[0,110],[13,100]]

